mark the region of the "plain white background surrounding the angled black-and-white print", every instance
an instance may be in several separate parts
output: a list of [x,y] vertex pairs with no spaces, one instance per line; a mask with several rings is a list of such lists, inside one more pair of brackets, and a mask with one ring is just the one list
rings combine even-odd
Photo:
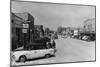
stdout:
[[[26,1],[26,0],[23,0]],[[40,2],[54,2],[54,3],[69,3],[69,4],[87,4],[96,5],[96,47],[97,47],[97,61],[86,63],[70,63],[70,64],[53,64],[53,65],[39,65],[40,67],[99,67],[100,64],[100,2],[99,0],[27,0]],[[0,1],[0,66],[10,67],[10,0]],[[38,65],[37,65],[38,66]],[[32,67],[32,66],[23,66]]]

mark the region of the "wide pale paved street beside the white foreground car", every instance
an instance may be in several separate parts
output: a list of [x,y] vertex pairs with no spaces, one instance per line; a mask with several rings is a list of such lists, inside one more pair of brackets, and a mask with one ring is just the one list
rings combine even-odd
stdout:
[[42,58],[25,63],[13,62],[13,65],[34,65],[45,63],[77,62],[95,60],[95,42],[86,42],[73,38],[56,40],[57,52],[55,57]]

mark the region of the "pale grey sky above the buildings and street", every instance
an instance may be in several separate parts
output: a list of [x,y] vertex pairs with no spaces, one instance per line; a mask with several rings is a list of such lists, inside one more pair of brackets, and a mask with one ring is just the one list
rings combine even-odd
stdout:
[[83,26],[86,19],[95,18],[94,6],[12,1],[11,12],[29,12],[35,18],[35,25],[52,30],[58,26]]

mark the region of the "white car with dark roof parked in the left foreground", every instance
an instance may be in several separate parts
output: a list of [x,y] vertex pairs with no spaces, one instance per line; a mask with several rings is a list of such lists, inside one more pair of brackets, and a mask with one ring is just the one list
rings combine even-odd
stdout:
[[12,58],[15,61],[25,62],[27,59],[46,57],[55,55],[55,49],[47,45],[28,45],[24,49],[13,52]]

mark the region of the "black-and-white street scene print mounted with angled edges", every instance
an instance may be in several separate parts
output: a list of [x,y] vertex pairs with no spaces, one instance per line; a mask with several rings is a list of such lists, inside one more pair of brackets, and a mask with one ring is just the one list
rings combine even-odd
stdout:
[[96,6],[11,0],[11,66],[96,61]]

